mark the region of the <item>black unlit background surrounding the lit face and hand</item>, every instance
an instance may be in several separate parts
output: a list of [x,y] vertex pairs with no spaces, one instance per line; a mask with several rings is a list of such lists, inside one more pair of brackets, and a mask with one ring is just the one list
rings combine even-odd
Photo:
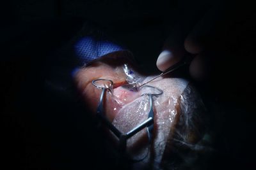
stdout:
[[[199,15],[204,15],[211,3],[202,2],[1,3],[2,169],[111,167],[86,108],[71,95],[72,90],[52,85],[54,75],[59,75],[53,72],[63,69],[54,58],[60,56],[56,52],[77,36],[84,22],[92,22],[129,48],[143,69],[156,72],[156,59],[170,27],[198,6]],[[221,36],[228,36],[220,43],[227,46],[228,55],[212,61],[216,67],[206,81],[194,82],[209,110],[217,151],[207,169],[255,168],[256,15],[250,7],[245,2],[232,6],[239,9],[237,20],[223,26]]]

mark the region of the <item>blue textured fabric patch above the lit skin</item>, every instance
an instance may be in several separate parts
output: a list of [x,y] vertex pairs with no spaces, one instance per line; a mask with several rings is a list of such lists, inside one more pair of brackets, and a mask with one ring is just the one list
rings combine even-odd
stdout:
[[97,40],[90,36],[81,38],[74,46],[77,57],[83,61],[83,64],[102,57],[107,53],[123,50],[121,46],[108,40]]

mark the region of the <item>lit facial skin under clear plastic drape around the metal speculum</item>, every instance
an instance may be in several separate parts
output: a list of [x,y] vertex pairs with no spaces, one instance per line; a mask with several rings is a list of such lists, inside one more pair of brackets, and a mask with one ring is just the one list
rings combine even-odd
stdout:
[[[99,103],[101,89],[92,85],[92,81],[103,78],[112,80],[113,90],[106,92],[104,99],[104,110],[106,117],[115,127],[125,133],[131,131],[141,122],[147,120],[149,111],[149,97],[147,93],[155,93],[154,89],[143,88],[138,92],[125,88],[127,84],[127,74],[124,71],[124,64],[127,64],[133,74],[140,78],[139,83],[149,80],[152,76],[140,74],[136,66],[125,52],[112,53],[99,60],[92,62],[90,66],[79,69],[75,76],[77,88],[81,92],[84,103],[88,105],[93,113],[96,113]],[[152,145],[148,146],[146,128],[138,132],[127,141],[127,152],[132,159],[141,159],[147,155],[148,147],[150,151],[148,156],[138,163],[135,167],[145,166],[159,167],[161,163],[168,158],[168,154],[174,147],[176,141],[194,144],[199,139],[199,134],[188,129],[189,125],[196,120],[193,116],[193,110],[202,110],[200,97],[195,93],[193,87],[190,87],[188,81],[181,78],[158,78],[148,85],[158,87],[163,90],[161,96],[153,97],[154,106],[154,134]],[[200,122],[196,120],[196,122]],[[180,128],[179,130],[179,127]],[[109,133],[111,136],[111,132]],[[115,137],[112,135],[113,139]],[[134,168],[136,169],[136,168]]]

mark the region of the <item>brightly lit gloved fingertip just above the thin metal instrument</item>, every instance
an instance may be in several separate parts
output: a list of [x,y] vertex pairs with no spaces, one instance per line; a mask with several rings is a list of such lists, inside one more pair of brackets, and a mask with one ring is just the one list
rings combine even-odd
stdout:
[[178,61],[179,57],[175,57],[170,50],[164,50],[157,58],[156,66],[160,71],[164,71]]

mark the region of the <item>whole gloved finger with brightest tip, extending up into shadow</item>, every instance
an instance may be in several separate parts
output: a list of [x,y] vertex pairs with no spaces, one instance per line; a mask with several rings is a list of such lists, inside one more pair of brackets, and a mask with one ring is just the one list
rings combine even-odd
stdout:
[[[200,0],[199,0],[200,1]],[[160,53],[156,65],[161,71],[166,70],[168,67],[179,62],[179,60],[186,54],[184,48],[184,39],[188,36],[195,23],[200,20],[205,11],[209,8],[204,1],[198,3],[191,3],[185,1],[185,8],[182,6],[176,13],[179,23],[169,31],[169,37],[163,46],[163,52]]]

